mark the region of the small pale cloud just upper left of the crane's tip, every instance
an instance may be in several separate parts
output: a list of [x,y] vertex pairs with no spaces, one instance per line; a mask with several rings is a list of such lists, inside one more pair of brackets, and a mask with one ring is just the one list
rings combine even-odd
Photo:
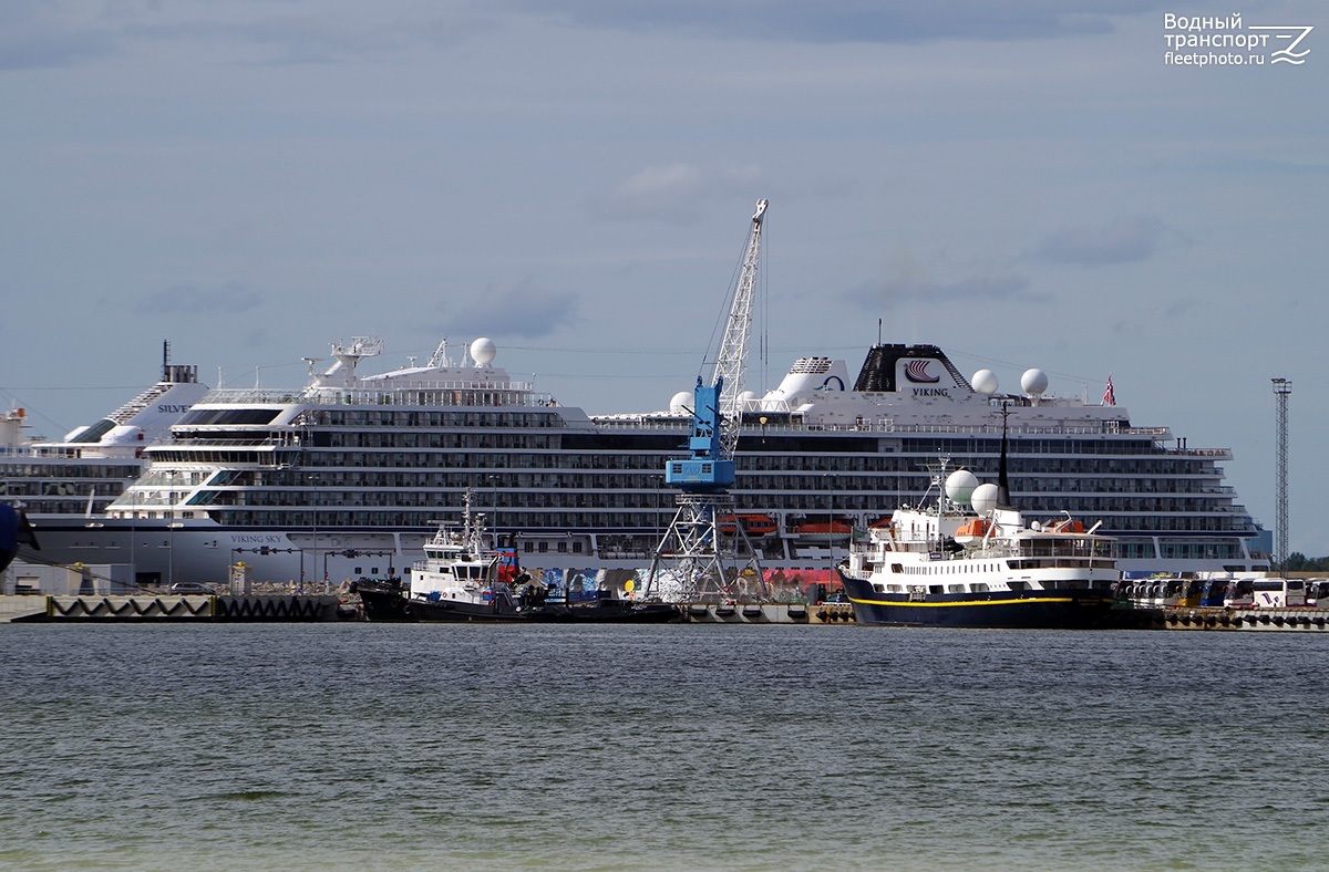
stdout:
[[688,163],[649,166],[595,196],[590,211],[609,220],[659,220],[688,224],[704,200],[747,194],[759,181],[755,166],[706,170]]

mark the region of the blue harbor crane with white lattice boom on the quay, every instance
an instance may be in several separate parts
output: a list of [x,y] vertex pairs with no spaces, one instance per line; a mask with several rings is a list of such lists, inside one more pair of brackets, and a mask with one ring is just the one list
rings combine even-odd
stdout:
[[[738,523],[735,499],[728,491],[735,480],[734,454],[743,422],[743,372],[766,207],[767,200],[758,200],[752,214],[711,384],[698,376],[692,389],[688,455],[664,466],[664,482],[678,488],[678,510],[651,559],[646,596],[686,601],[766,599],[759,555]],[[732,538],[720,535],[722,518],[734,522]],[[743,567],[738,565],[740,553],[746,556]]]

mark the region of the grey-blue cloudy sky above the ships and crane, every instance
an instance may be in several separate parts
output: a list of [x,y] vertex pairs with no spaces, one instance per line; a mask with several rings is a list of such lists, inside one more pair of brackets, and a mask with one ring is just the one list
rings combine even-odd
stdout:
[[1111,376],[1272,528],[1288,378],[1289,551],[1329,555],[1329,7],[1236,5],[5,0],[0,403],[60,438],[163,341],[284,388],[372,334],[663,409],[768,198],[747,388],[878,334]]

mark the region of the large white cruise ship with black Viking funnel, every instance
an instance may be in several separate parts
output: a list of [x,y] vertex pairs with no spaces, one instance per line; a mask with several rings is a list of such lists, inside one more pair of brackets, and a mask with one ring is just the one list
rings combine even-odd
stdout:
[[[338,584],[423,559],[470,490],[524,567],[650,565],[675,510],[663,470],[684,453],[691,393],[589,415],[510,377],[486,338],[455,361],[444,340],[424,365],[365,374],[381,350],[372,337],[335,344],[304,388],[209,392],[144,447],[142,478],[94,520],[29,507],[43,556],[130,563],[140,584],[215,583],[241,563],[254,580]],[[1037,369],[1019,382],[966,377],[936,345],[877,344],[856,376],[801,357],[773,390],[742,397],[736,510],[720,530],[744,524],[734,539],[751,542],[775,589],[831,584],[851,538],[925,491],[938,457],[995,474],[1005,407],[1010,488],[1030,516],[1099,523],[1123,571],[1268,568],[1261,531],[1224,484],[1229,450],[1051,396]]]

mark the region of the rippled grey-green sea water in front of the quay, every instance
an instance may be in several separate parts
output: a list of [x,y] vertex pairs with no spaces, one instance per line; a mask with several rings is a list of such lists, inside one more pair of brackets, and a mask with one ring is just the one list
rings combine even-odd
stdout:
[[1325,868],[1325,645],[0,626],[0,867]]

